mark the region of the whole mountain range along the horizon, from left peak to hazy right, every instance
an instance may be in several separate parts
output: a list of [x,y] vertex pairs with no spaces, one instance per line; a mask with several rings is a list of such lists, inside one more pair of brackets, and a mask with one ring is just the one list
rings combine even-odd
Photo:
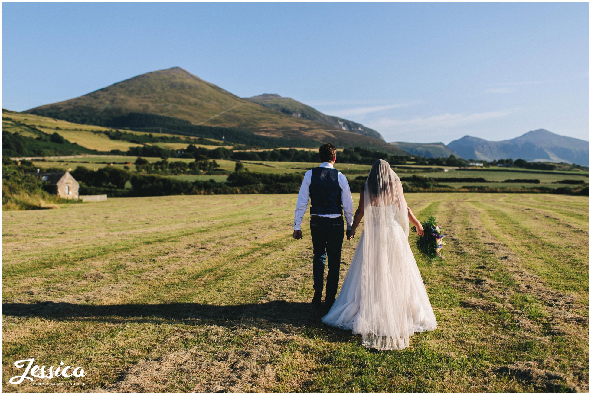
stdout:
[[464,136],[448,145],[387,143],[376,130],[360,123],[323,114],[278,94],[243,99],[180,67],[141,74],[25,113],[117,128],[149,125],[152,129],[170,130],[178,127],[206,137],[222,139],[226,136],[235,139],[233,142],[266,147],[332,142],[339,148],[361,146],[389,154],[406,155],[408,152],[430,158],[453,154],[486,161],[521,158],[589,165],[589,142],[559,136],[545,129],[505,141]]

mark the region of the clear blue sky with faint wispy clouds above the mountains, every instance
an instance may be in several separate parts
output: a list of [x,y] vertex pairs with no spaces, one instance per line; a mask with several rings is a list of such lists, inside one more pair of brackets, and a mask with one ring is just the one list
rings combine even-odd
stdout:
[[586,3],[4,3],[2,106],[179,66],[387,141],[589,139]]

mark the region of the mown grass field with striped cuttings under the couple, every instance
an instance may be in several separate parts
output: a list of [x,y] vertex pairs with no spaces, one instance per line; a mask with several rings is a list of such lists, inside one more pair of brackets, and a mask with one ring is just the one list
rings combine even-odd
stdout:
[[[407,194],[447,228],[444,260],[415,254],[439,327],[381,352],[311,314],[295,200],[4,212],[3,390],[588,391],[589,198]],[[31,357],[82,366],[86,386],[8,384]]]

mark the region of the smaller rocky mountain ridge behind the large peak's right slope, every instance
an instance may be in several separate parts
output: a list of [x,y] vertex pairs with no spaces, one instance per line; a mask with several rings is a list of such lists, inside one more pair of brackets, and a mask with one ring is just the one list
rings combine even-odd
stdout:
[[384,140],[382,135],[374,129],[369,129],[366,126],[361,125],[361,123],[353,122],[348,119],[323,114],[313,107],[291,99],[291,97],[282,97],[276,93],[263,93],[258,96],[246,97],[246,100],[250,100],[253,103],[258,103],[261,106],[280,111],[296,118],[312,120],[321,123],[322,125],[330,126],[330,128],[342,129],[348,132]]

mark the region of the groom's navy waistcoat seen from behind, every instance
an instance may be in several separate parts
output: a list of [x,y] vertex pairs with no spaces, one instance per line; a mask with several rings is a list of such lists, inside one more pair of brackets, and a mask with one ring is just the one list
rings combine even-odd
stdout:
[[312,169],[310,178],[310,214],[343,214],[340,201],[339,171],[329,167]]

